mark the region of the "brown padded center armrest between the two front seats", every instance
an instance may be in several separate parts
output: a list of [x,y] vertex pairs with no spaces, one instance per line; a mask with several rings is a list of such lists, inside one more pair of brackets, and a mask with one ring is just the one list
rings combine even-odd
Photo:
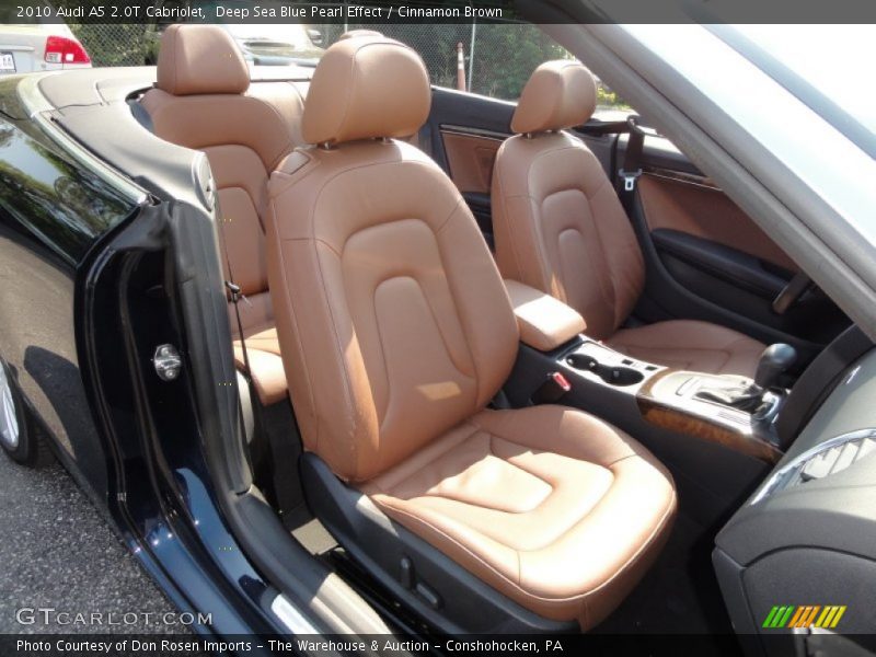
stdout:
[[541,290],[516,280],[505,280],[520,341],[539,351],[552,351],[567,343],[587,325],[578,312]]

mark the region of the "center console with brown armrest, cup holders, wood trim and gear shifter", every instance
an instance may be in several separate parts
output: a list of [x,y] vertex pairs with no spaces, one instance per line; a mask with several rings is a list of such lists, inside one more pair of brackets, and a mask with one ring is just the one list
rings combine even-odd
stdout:
[[587,337],[578,313],[538,290],[508,291],[522,343],[504,389],[511,406],[563,404],[626,431],[670,469],[706,525],[782,458],[775,424],[786,394],[776,383],[793,354],[764,354],[754,380],[672,369]]

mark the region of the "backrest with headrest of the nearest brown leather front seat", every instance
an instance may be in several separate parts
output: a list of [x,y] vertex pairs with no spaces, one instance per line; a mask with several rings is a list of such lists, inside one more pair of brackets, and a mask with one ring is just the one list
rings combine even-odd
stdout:
[[364,482],[483,408],[517,353],[507,292],[470,210],[393,139],[429,113],[419,56],[381,36],[326,50],[304,139],[273,174],[268,270],[307,449]]

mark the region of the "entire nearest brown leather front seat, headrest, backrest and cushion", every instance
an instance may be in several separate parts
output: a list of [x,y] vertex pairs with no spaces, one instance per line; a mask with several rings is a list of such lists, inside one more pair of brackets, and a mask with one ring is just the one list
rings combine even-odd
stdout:
[[518,330],[459,192],[394,139],[428,113],[416,53],[338,42],[304,108],[321,146],[272,175],[270,292],[304,446],[520,606],[591,627],[665,541],[672,480],[579,411],[485,410]]

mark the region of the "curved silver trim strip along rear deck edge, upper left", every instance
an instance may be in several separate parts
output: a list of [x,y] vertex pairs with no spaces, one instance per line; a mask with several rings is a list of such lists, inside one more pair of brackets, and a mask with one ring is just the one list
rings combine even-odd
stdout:
[[39,90],[39,81],[55,74],[58,74],[58,72],[32,73],[19,82],[16,88],[19,99],[27,110],[27,116],[38,124],[58,146],[72,155],[79,164],[118,189],[132,203],[142,205],[147,199],[147,193],[142,187],[83,148],[48,116],[48,113],[54,112],[56,107],[43,95]]

